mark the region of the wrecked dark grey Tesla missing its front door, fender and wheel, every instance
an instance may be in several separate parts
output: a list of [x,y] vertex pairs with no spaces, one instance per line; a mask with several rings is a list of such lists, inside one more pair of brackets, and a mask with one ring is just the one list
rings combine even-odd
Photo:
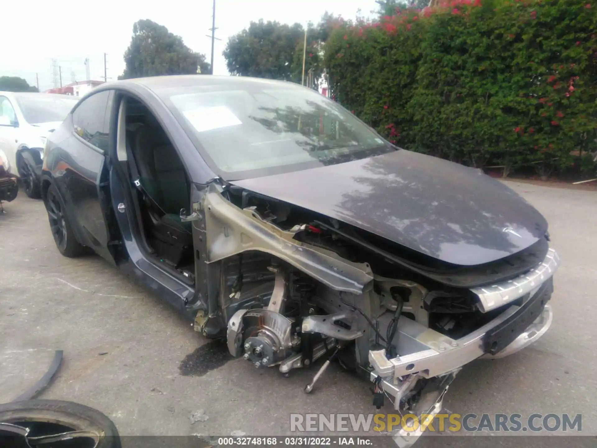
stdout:
[[296,84],[104,84],[48,137],[41,191],[64,256],[133,272],[257,368],[334,353],[404,413],[438,412],[464,364],[552,321],[537,210]]

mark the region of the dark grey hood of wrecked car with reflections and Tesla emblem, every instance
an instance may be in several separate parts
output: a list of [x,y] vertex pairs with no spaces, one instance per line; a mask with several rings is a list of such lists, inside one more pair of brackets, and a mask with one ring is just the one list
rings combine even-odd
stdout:
[[481,170],[404,149],[232,183],[454,265],[501,259],[547,232],[535,208]]

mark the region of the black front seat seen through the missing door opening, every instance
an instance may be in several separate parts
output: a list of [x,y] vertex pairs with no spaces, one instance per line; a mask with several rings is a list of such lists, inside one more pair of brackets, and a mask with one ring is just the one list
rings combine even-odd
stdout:
[[131,136],[131,153],[139,171],[153,225],[150,244],[164,259],[179,265],[192,257],[190,222],[181,222],[180,209],[189,208],[189,186],[184,167],[161,127],[137,125]]

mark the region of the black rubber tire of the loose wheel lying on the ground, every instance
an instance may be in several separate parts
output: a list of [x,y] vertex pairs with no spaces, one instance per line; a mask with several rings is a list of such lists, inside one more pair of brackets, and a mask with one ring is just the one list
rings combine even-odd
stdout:
[[[69,431],[90,431],[97,437],[95,448],[121,448],[118,430],[109,418],[99,410],[72,403],[72,401],[27,400],[0,404],[0,422],[29,427],[29,437],[49,436]],[[80,443],[73,444],[72,442],[76,440]],[[78,447],[90,446],[90,442],[93,446],[93,438],[75,437],[60,443],[37,446]],[[2,438],[0,438],[0,446],[5,446]]]

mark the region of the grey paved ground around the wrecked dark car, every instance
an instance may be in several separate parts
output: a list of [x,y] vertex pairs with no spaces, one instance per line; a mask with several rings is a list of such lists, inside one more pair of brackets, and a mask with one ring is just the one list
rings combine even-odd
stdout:
[[[597,192],[508,182],[546,216],[562,264],[549,332],[508,358],[475,361],[444,400],[449,412],[581,413],[597,435]],[[290,413],[375,413],[370,384],[333,364],[284,378],[226,354],[190,323],[97,256],[67,259],[41,201],[22,191],[0,214],[0,403],[64,361],[41,398],[106,413],[123,435],[282,435]],[[202,410],[205,421],[191,422]],[[235,433],[238,434],[238,433]],[[490,446],[491,437],[478,438]]]

